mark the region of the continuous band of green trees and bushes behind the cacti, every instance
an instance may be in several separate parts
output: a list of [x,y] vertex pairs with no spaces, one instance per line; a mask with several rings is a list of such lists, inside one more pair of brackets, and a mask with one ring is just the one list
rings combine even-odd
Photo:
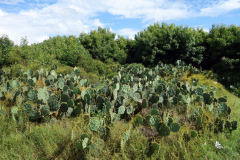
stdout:
[[[216,72],[219,80],[239,94],[240,27],[213,25],[203,29],[154,23],[135,35],[135,40],[116,38],[110,29],[99,27],[89,34],[56,36],[39,44],[20,46],[8,36],[0,39],[0,64],[62,64],[83,67],[97,75],[111,73],[115,64],[141,63],[153,67],[159,62],[174,64],[182,60],[195,67]],[[117,62],[117,63],[115,63]],[[238,76],[236,76],[238,75]]]

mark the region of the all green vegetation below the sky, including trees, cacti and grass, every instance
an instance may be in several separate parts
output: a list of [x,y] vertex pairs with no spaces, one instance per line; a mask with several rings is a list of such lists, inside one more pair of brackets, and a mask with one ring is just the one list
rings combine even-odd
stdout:
[[239,93],[226,78],[238,33],[156,23],[135,40],[99,27],[20,46],[3,35],[0,159],[237,159],[240,100],[219,82]]

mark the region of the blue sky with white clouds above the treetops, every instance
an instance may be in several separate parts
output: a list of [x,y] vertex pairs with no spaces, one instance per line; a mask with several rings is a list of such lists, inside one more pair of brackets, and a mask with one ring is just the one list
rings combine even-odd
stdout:
[[240,0],[0,0],[0,35],[29,44],[98,26],[124,37],[155,22],[200,27],[240,25]]

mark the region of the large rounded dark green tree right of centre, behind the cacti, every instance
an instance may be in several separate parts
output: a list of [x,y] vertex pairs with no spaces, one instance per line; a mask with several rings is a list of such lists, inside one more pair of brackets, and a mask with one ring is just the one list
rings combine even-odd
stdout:
[[136,58],[147,66],[154,66],[159,61],[173,64],[179,59],[200,64],[206,35],[202,29],[155,23],[135,36]]

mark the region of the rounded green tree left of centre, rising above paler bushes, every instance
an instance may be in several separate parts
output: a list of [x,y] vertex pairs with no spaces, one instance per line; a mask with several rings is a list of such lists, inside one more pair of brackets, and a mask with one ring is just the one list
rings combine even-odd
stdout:
[[115,61],[124,64],[127,57],[124,50],[126,40],[122,36],[114,40],[115,36],[110,29],[98,27],[98,30],[93,30],[90,34],[81,33],[79,40],[93,58],[103,62]]

